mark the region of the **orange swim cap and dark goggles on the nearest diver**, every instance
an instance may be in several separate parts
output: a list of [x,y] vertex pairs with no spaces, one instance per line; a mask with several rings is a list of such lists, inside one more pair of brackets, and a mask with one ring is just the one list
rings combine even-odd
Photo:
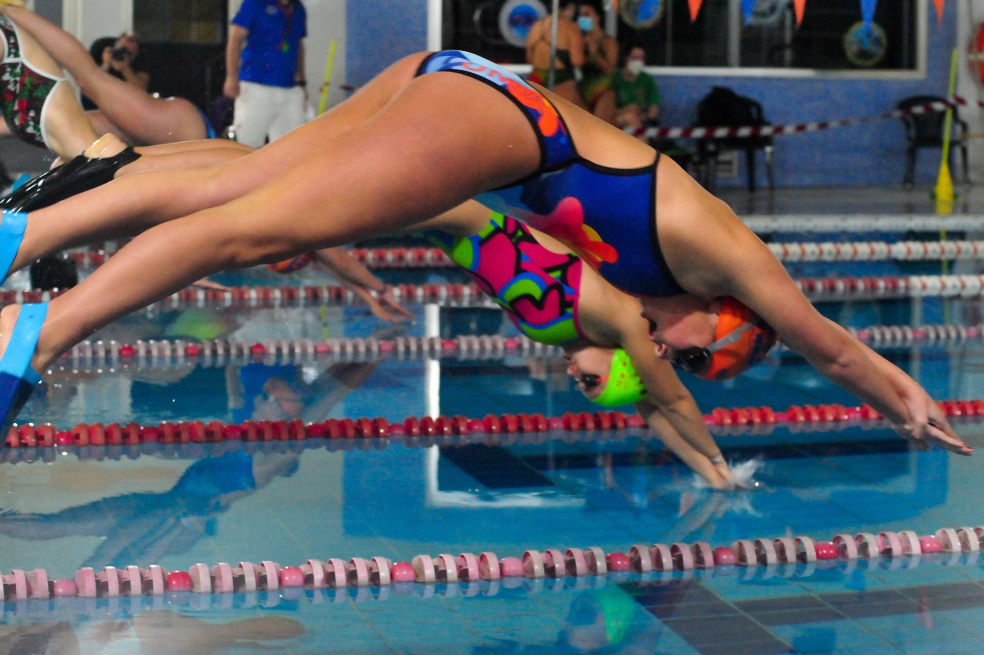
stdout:
[[730,296],[718,299],[714,342],[707,348],[684,348],[674,363],[698,378],[719,382],[734,378],[762,361],[775,345],[775,330],[748,307]]

